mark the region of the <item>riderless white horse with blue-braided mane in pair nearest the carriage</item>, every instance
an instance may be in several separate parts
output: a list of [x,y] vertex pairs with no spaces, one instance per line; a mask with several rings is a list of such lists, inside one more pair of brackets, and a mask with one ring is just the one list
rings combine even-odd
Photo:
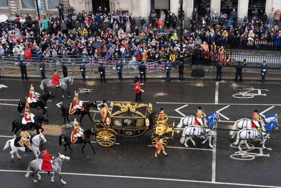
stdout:
[[187,141],[190,139],[195,146],[195,142],[192,136],[204,136],[207,135],[206,139],[202,142],[204,144],[207,139],[209,139],[209,146],[213,148],[211,144],[212,135],[214,135],[214,128],[217,123],[220,122],[220,116],[218,113],[214,113],[204,126],[200,125],[188,125],[183,129],[182,137],[180,138],[180,143],[184,142],[185,147],[188,148]]

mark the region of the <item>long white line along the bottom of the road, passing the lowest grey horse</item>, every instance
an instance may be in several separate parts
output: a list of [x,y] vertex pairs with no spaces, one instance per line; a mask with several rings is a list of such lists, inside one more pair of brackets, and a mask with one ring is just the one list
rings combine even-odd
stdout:
[[[1,172],[27,172],[26,170],[2,170]],[[47,172],[40,172],[47,173]],[[250,187],[270,187],[270,188],[281,188],[280,186],[272,185],[255,185],[255,184],[243,184],[243,183],[227,183],[227,182],[207,182],[207,181],[197,181],[197,180],[180,180],[180,179],[170,179],[170,178],[158,178],[158,177],[137,177],[137,176],[118,176],[118,175],[103,175],[103,174],[81,174],[81,173],[67,173],[60,172],[60,174],[65,175],[81,175],[81,176],[97,176],[97,177],[120,177],[129,179],[144,179],[144,180],[163,180],[163,181],[177,181],[177,182],[194,182],[194,183],[206,183],[206,184],[221,184],[221,185],[239,185],[239,186],[250,186]]]

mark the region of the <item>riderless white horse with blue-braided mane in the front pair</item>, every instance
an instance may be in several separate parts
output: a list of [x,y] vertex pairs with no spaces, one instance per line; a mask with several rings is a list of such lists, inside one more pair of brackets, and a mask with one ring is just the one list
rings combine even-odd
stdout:
[[241,129],[236,137],[236,142],[234,143],[234,145],[237,145],[239,142],[239,139],[241,138],[241,141],[239,142],[239,151],[242,151],[241,149],[241,144],[245,143],[245,145],[247,146],[248,149],[251,149],[250,146],[247,144],[247,139],[249,140],[256,140],[256,139],[262,139],[263,141],[261,143],[263,143],[263,148],[265,149],[265,141],[268,138],[269,134],[271,131],[273,131],[274,129],[277,129],[278,127],[278,121],[273,121],[270,122],[266,125],[263,126],[263,129],[261,129],[260,131],[258,131],[258,129],[256,128],[244,128]]

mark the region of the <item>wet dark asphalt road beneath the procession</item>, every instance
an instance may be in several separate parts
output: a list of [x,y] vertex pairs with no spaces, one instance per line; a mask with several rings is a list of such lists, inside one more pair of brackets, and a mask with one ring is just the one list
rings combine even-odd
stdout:
[[[134,101],[134,88],[131,80],[123,82],[108,81],[100,83],[91,81],[82,83],[75,80],[74,84],[69,87],[71,98],[61,97],[61,92],[53,90],[55,100],[47,103],[47,114],[49,115],[49,125],[45,129],[45,138],[47,143],[44,145],[51,154],[61,153],[70,157],[62,165],[62,172],[74,174],[62,174],[62,178],[67,185],[62,185],[58,177],[55,177],[55,183],[50,182],[47,174],[42,174],[42,182],[34,184],[31,176],[25,178],[24,172],[5,172],[3,170],[25,171],[28,162],[35,159],[32,154],[25,156],[23,152],[19,155],[23,159],[18,160],[16,155],[13,160],[10,159],[10,148],[0,152],[2,163],[0,164],[0,179],[7,179],[2,182],[5,187],[37,187],[40,185],[48,187],[241,187],[238,184],[248,185],[264,185],[264,186],[280,186],[280,140],[268,140],[265,146],[272,150],[260,150],[259,143],[254,144],[255,149],[250,153],[260,154],[263,152],[265,156],[256,156],[253,160],[237,160],[230,156],[238,151],[237,148],[231,147],[234,140],[217,137],[215,139],[216,147],[209,147],[208,142],[201,144],[200,138],[194,138],[196,146],[190,141],[188,149],[179,142],[179,138],[169,139],[168,147],[165,149],[169,155],[164,156],[160,153],[158,159],[154,158],[155,148],[151,147],[151,133],[149,130],[144,136],[124,137],[117,136],[114,146],[104,148],[96,143],[92,143],[97,151],[93,154],[90,146],[86,146],[81,152],[81,146],[71,145],[74,152],[63,151],[64,147],[59,146],[59,134],[71,131],[72,127],[67,127],[63,123],[61,110],[56,104],[62,102],[72,102],[74,90],[79,88],[92,89],[91,92],[79,93],[80,100],[89,101],[96,100],[100,104],[103,99],[110,101]],[[22,81],[17,78],[5,78],[0,80],[0,84],[8,86],[8,88],[0,88],[0,141],[3,148],[8,137],[13,136],[11,133],[11,123],[14,119],[21,117],[17,112],[18,100],[27,96],[30,84],[33,84],[35,91],[42,93],[40,90],[40,80],[30,79]],[[87,85],[88,84],[88,85]],[[243,87],[241,87],[243,86]],[[165,107],[165,113],[168,114],[168,122],[171,124],[173,120],[180,120],[183,115],[194,115],[198,106],[204,109],[205,113],[213,113],[220,110],[222,123],[219,128],[229,129],[230,124],[234,121],[247,117],[251,118],[254,109],[259,112],[268,114],[280,114],[280,83],[268,82],[260,84],[255,81],[243,83],[234,83],[231,81],[220,82],[218,85],[218,95],[216,98],[216,82],[212,80],[186,80],[183,82],[172,81],[164,82],[163,80],[149,80],[145,82],[141,88],[143,93],[143,103],[153,105],[152,111],[159,112],[160,107]],[[80,89],[81,90],[81,89]],[[247,92],[247,93],[239,93]],[[234,96],[233,96],[234,95]],[[242,97],[242,98],[237,98]],[[217,99],[217,100],[216,100]],[[60,104],[60,105],[62,105]],[[99,105],[100,107],[100,105]],[[35,115],[42,113],[42,110],[31,109]],[[95,112],[91,112],[93,117]],[[71,121],[77,116],[69,116]],[[81,127],[83,129],[93,128],[93,124],[88,117],[82,119]],[[54,126],[54,127],[52,127]],[[64,126],[64,127],[63,127]],[[54,128],[54,132],[52,132]],[[17,133],[19,136],[20,132]],[[43,132],[44,134],[44,132]],[[55,134],[55,135],[54,135]],[[167,134],[169,135],[169,134]],[[175,134],[175,136],[179,136]],[[229,131],[217,131],[217,136],[229,137]],[[281,138],[279,133],[272,133],[272,138]],[[93,140],[94,141],[94,140]],[[64,143],[64,142],[63,142]],[[249,143],[249,142],[248,142]],[[214,140],[212,142],[214,144]],[[245,149],[244,149],[245,150]],[[252,156],[254,154],[251,154]],[[235,155],[239,158],[239,155]],[[41,156],[40,156],[41,158]],[[235,157],[234,157],[235,158]],[[240,156],[241,158],[241,156]],[[249,157],[250,159],[253,157]],[[248,158],[248,159],[249,159]],[[83,174],[83,175],[82,175]],[[262,175],[263,174],[263,175]],[[105,175],[105,176],[91,176]],[[107,175],[121,177],[107,177]],[[260,176],[261,175],[261,176]],[[195,182],[173,181],[173,180],[154,180],[139,179],[130,177],[147,177],[147,178],[163,178],[173,180],[191,180]],[[261,178],[258,178],[261,177]],[[14,179],[17,181],[14,181]],[[222,182],[232,184],[210,184],[207,182]]]

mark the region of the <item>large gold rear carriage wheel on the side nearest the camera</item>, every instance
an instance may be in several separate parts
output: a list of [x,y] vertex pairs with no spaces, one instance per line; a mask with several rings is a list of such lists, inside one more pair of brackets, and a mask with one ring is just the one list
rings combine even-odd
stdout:
[[116,142],[116,136],[108,130],[99,130],[95,136],[96,142],[103,147],[113,146]]

